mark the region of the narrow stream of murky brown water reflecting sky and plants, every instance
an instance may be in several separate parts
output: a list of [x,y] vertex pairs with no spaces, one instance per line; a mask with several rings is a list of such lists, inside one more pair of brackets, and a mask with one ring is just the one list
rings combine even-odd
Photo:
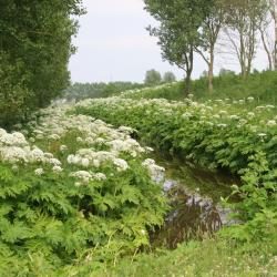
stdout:
[[175,248],[178,243],[202,238],[232,224],[230,211],[220,197],[230,194],[238,179],[223,174],[201,171],[178,161],[154,157],[166,168],[164,191],[171,204],[164,226],[152,235],[153,246]]

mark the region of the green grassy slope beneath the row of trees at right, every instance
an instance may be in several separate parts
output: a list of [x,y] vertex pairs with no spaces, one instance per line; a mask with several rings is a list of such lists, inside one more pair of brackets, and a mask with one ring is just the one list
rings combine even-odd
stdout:
[[[192,93],[198,101],[226,99],[246,99],[254,96],[260,103],[277,103],[277,73],[266,71],[253,73],[246,80],[235,74],[215,76],[214,90],[207,90],[207,79],[194,80]],[[146,88],[132,92],[125,92],[126,98],[132,99],[167,99],[184,100],[184,82],[165,84],[157,88]]]

